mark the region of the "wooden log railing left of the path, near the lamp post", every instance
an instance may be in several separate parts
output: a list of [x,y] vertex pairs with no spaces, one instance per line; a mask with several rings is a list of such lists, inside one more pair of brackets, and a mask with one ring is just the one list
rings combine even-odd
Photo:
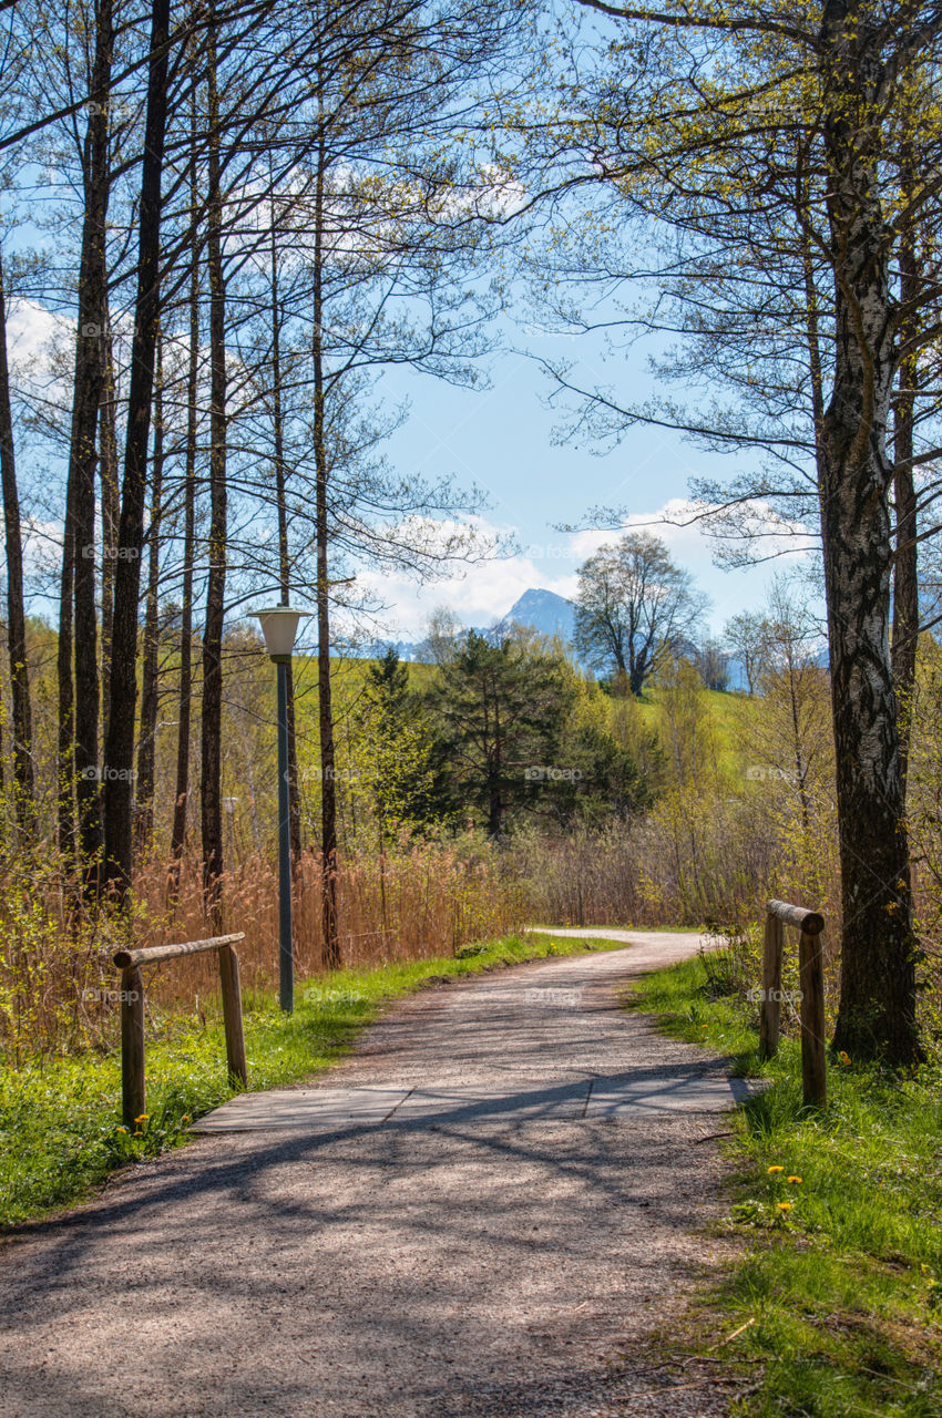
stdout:
[[245,932],[234,936],[211,936],[209,940],[187,940],[179,946],[148,946],[143,950],[119,950],[115,964],[121,970],[121,1100],[125,1126],[132,1127],[146,1112],[146,1083],[143,1059],[143,978],[142,966],[159,960],[197,956],[203,950],[218,950],[218,976],[223,987],[223,1022],[226,1027],[226,1062],[228,1075],[243,1086],[248,1082],[245,1068],[245,1038],[243,1034],[243,993],[238,986],[238,956],[233,950]]

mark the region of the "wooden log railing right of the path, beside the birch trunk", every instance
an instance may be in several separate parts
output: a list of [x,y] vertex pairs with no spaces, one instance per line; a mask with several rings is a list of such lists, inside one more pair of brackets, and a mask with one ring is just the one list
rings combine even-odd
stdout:
[[824,1054],[824,961],[821,932],[824,917],[785,900],[766,903],[765,954],[762,960],[762,1014],[759,1051],[772,1058],[779,1048],[782,1014],[782,947],[785,927],[802,932],[799,939],[799,991],[802,1008],[802,1089],[804,1103],[821,1106],[827,1099]]

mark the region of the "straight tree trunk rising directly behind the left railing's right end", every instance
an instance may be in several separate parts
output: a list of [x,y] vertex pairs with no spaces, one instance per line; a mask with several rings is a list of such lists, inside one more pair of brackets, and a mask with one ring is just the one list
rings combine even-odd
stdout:
[[226,284],[223,274],[223,196],[220,189],[218,94],[216,86],[216,10],[207,30],[210,281],[210,542],[203,628],[201,837],[203,888],[213,930],[223,929],[223,620],[226,615]]

